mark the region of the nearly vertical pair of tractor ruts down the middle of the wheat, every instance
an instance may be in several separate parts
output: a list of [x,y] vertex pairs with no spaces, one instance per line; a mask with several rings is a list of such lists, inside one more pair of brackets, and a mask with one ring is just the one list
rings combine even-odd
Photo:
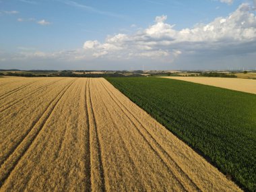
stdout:
[[[92,138],[93,135],[92,135],[92,127],[90,127],[90,141],[93,141],[94,139],[96,139],[96,143],[97,143],[97,154],[98,154],[98,163],[99,163],[99,172],[100,172],[100,190],[101,191],[106,191],[106,184],[105,184],[105,177],[104,177],[104,168],[103,168],[103,164],[102,164],[102,146],[100,145],[100,139],[98,137],[98,129],[97,129],[97,124],[96,124],[96,119],[95,119],[95,113],[94,113],[94,108],[92,106],[92,95],[91,95],[91,92],[90,92],[90,78],[88,79],[88,98],[87,98],[87,102],[88,102],[88,110],[89,108],[92,110],[91,113],[92,113],[92,116],[90,115],[90,113],[88,113],[89,115],[89,118],[90,119],[90,116],[92,118],[92,122],[93,122],[93,129],[94,129],[94,132],[95,132],[95,138]],[[90,106],[90,107],[89,107]],[[90,122],[90,121],[89,121]],[[90,125],[91,126],[91,125]],[[90,152],[92,152],[92,144],[90,144]],[[92,165],[92,158],[91,158],[91,165]],[[92,169],[91,169],[92,170]],[[91,172],[91,176],[92,176],[92,172]]]

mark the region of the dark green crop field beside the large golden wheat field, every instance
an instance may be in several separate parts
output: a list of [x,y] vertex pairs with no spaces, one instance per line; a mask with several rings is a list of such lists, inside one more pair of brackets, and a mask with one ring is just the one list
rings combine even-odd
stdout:
[[256,190],[255,94],[157,77],[107,80],[222,172]]

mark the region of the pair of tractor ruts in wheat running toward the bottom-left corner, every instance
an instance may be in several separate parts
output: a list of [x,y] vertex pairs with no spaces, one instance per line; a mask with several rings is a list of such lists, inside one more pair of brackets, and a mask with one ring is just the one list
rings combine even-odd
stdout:
[[[47,119],[49,119],[49,117],[51,116],[51,114],[53,113],[53,110],[55,109],[55,107],[57,106],[57,104],[59,103],[59,100],[61,100],[61,98],[63,97],[63,95],[65,94],[65,92],[67,92],[67,90],[69,89],[69,87],[75,82],[75,79],[73,80],[73,82],[71,82],[70,84],[68,84],[64,89],[63,92],[59,93],[58,96],[59,98],[57,99],[57,97],[54,99],[56,100],[55,104],[53,104],[53,106],[49,109],[49,107],[51,106],[51,104],[54,102],[54,100],[49,104],[49,106],[46,108],[46,110],[44,111],[44,113],[46,113],[46,111],[49,109],[49,112],[44,116],[44,113],[42,115],[42,117],[40,119],[38,119],[38,121],[36,123],[34,123],[34,126],[32,127],[32,129],[30,129],[30,131],[28,132],[28,134],[24,137],[24,139],[22,139],[22,141],[19,143],[19,145],[17,146],[17,148],[13,149],[13,152],[11,154],[9,154],[9,156],[7,157],[7,159],[5,160],[5,162],[3,162],[3,164],[1,164],[1,168],[0,168],[0,187],[3,185],[3,183],[7,180],[7,178],[9,177],[9,175],[11,174],[11,172],[13,171],[13,169],[15,168],[15,166],[18,164],[18,162],[20,162],[20,160],[22,159],[22,156],[24,156],[24,154],[26,153],[26,151],[28,150],[28,148],[30,148],[30,146],[32,145],[33,141],[36,139],[37,135],[40,133],[40,131],[42,130],[42,127],[44,127]],[[42,122],[39,122],[42,119]],[[38,127],[36,127],[38,123]],[[37,129],[36,129],[37,128]],[[34,133],[32,133],[32,131],[34,131]],[[28,138],[28,139],[26,139]],[[28,141],[27,141],[28,140]],[[19,148],[20,147],[20,148]],[[23,148],[22,148],[23,147]],[[16,156],[15,156],[16,154]],[[9,164],[11,164],[11,166],[9,166]],[[1,188],[0,188],[1,189]]]

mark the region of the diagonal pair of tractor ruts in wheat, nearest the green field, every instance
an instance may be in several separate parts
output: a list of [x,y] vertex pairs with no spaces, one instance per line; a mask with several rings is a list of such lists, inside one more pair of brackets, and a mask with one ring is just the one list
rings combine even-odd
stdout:
[[[102,81],[100,81],[102,83]],[[104,83],[102,83],[102,86],[105,88],[106,92],[108,92],[109,96],[111,98],[113,98],[113,96],[115,98],[113,98],[113,100],[116,102],[116,100],[120,103],[118,104],[118,106],[121,108],[121,106],[123,106],[127,112],[137,121],[137,123],[139,123],[139,125],[141,125],[141,127],[143,127],[143,129],[146,131],[146,133],[150,136],[150,138],[154,141],[154,143],[156,143],[156,146],[158,146],[158,148],[160,149],[160,152],[162,153],[162,155],[164,154],[165,156],[168,156],[168,159],[172,160],[172,162],[174,162],[174,160],[170,157],[170,155],[162,148],[162,146],[160,146],[160,144],[158,143],[158,141],[156,141],[156,139],[154,139],[154,137],[148,132],[148,130],[146,130],[146,127],[144,127],[140,122],[139,120],[131,113],[131,111],[129,111],[129,109],[127,109],[127,107],[115,96],[115,94],[113,94],[113,92],[111,92],[111,90],[109,90],[108,88],[106,88],[106,86],[104,85]],[[107,90],[108,89],[108,90]],[[111,94],[113,94],[113,96],[110,95],[110,92]],[[121,109],[123,110],[123,109]],[[125,113],[125,111],[123,110],[123,112]],[[137,127],[137,125],[135,125],[135,123],[133,123],[133,120],[125,113],[125,115],[127,116],[127,118],[131,121],[131,123],[136,127],[136,129],[139,131],[140,135],[147,141],[147,143],[151,146],[152,149],[154,149],[154,147],[152,146],[152,144],[150,143],[150,141],[148,141],[148,139],[146,139],[145,135],[143,135],[143,133],[139,130],[139,128]],[[176,174],[174,174],[174,170],[171,166],[168,165],[168,162],[164,161],[164,159],[162,158],[161,154],[158,152],[158,150],[155,150],[154,151],[156,152],[156,154],[158,154],[158,156],[162,159],[162,161],[164,162],[164,164],[166,164],[166,166],[171,170],[172,174],[174,175],[174,177],[180,181],[180,179],[178,177],[176,177]],[[199,189],[199,187],[197,187],[197,185],[195,185],[195,183],[189,178],[189,176],[181,169],[181,167],[177,164],[177,162],[174,162],[176,168],[178,170],[180,170],[181,172],[183,172],[184,174],[184,177],[186,179],[188,179],[188,181],[191,182],[191,184],[193,185],[193,187],[195,187],[195,189],[197,191],[201,191],[201,189]],[[179,171],[178,171],[179,172]],[[182,182],[180,181],[181,185],[182,185]],[[184,187],[184,186],[183,186]],[[187,189],[185,189],[187,190]]]

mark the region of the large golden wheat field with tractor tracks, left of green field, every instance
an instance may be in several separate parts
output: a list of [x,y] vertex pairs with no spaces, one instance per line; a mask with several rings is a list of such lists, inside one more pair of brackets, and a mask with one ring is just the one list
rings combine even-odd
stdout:
[[1,78],[0,165],[0,191],[241,191],[102,78]]

